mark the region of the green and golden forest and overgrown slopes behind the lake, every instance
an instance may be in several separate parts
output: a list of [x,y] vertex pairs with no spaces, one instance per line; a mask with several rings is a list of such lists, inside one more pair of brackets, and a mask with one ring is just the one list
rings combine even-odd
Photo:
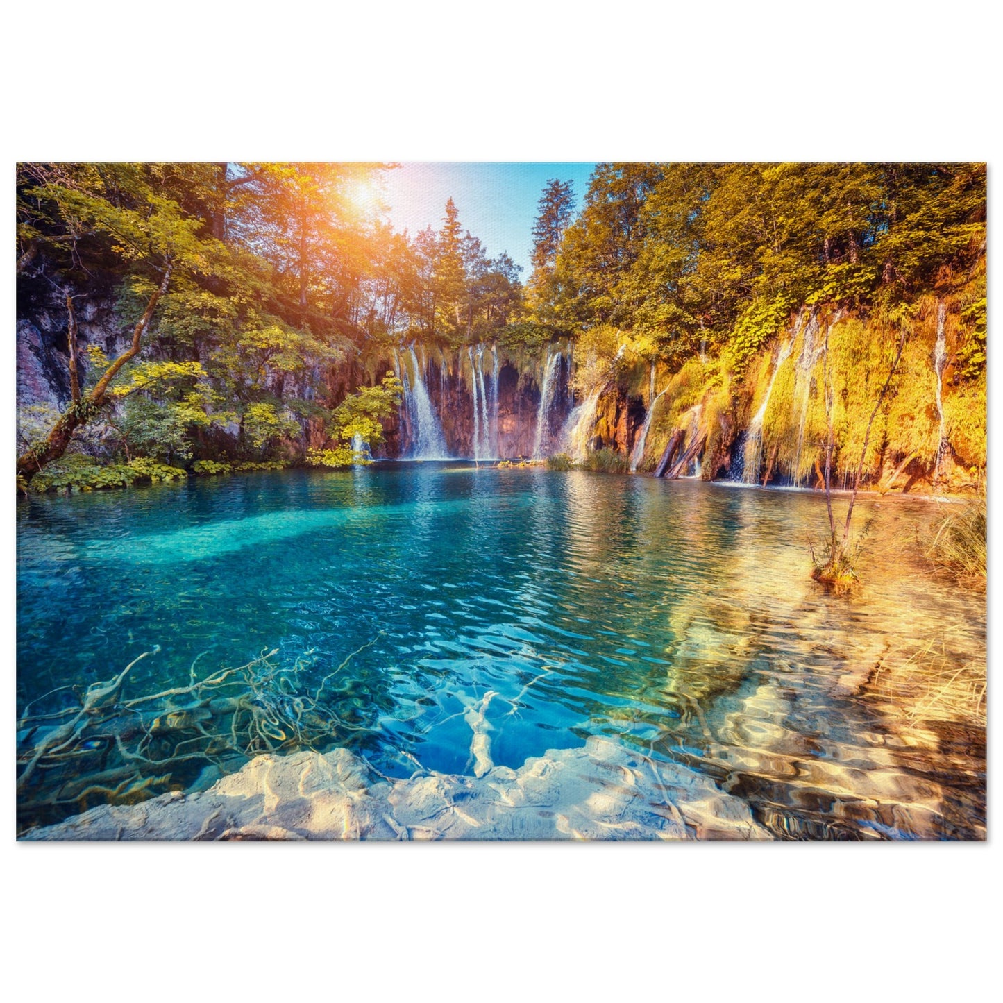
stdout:
[[472,394],[491,420],[463,368],[485,345],[517,424],[544,423],[566,353],[589,406],[563,439],[555,413],[549,453],[572,461],[650,470],[679,433],[705,479],[821,486],[827,455],[847,486],[863,445],[864,482],[981,483],[984,164],[601,163],[581,197],[541,194],[525,281],[451,199],[438,230],[395,232],[394,170],[20,164],[20,487],[404,455],[401,398],[436,359],[447,447],[476,455],[445,412]]

